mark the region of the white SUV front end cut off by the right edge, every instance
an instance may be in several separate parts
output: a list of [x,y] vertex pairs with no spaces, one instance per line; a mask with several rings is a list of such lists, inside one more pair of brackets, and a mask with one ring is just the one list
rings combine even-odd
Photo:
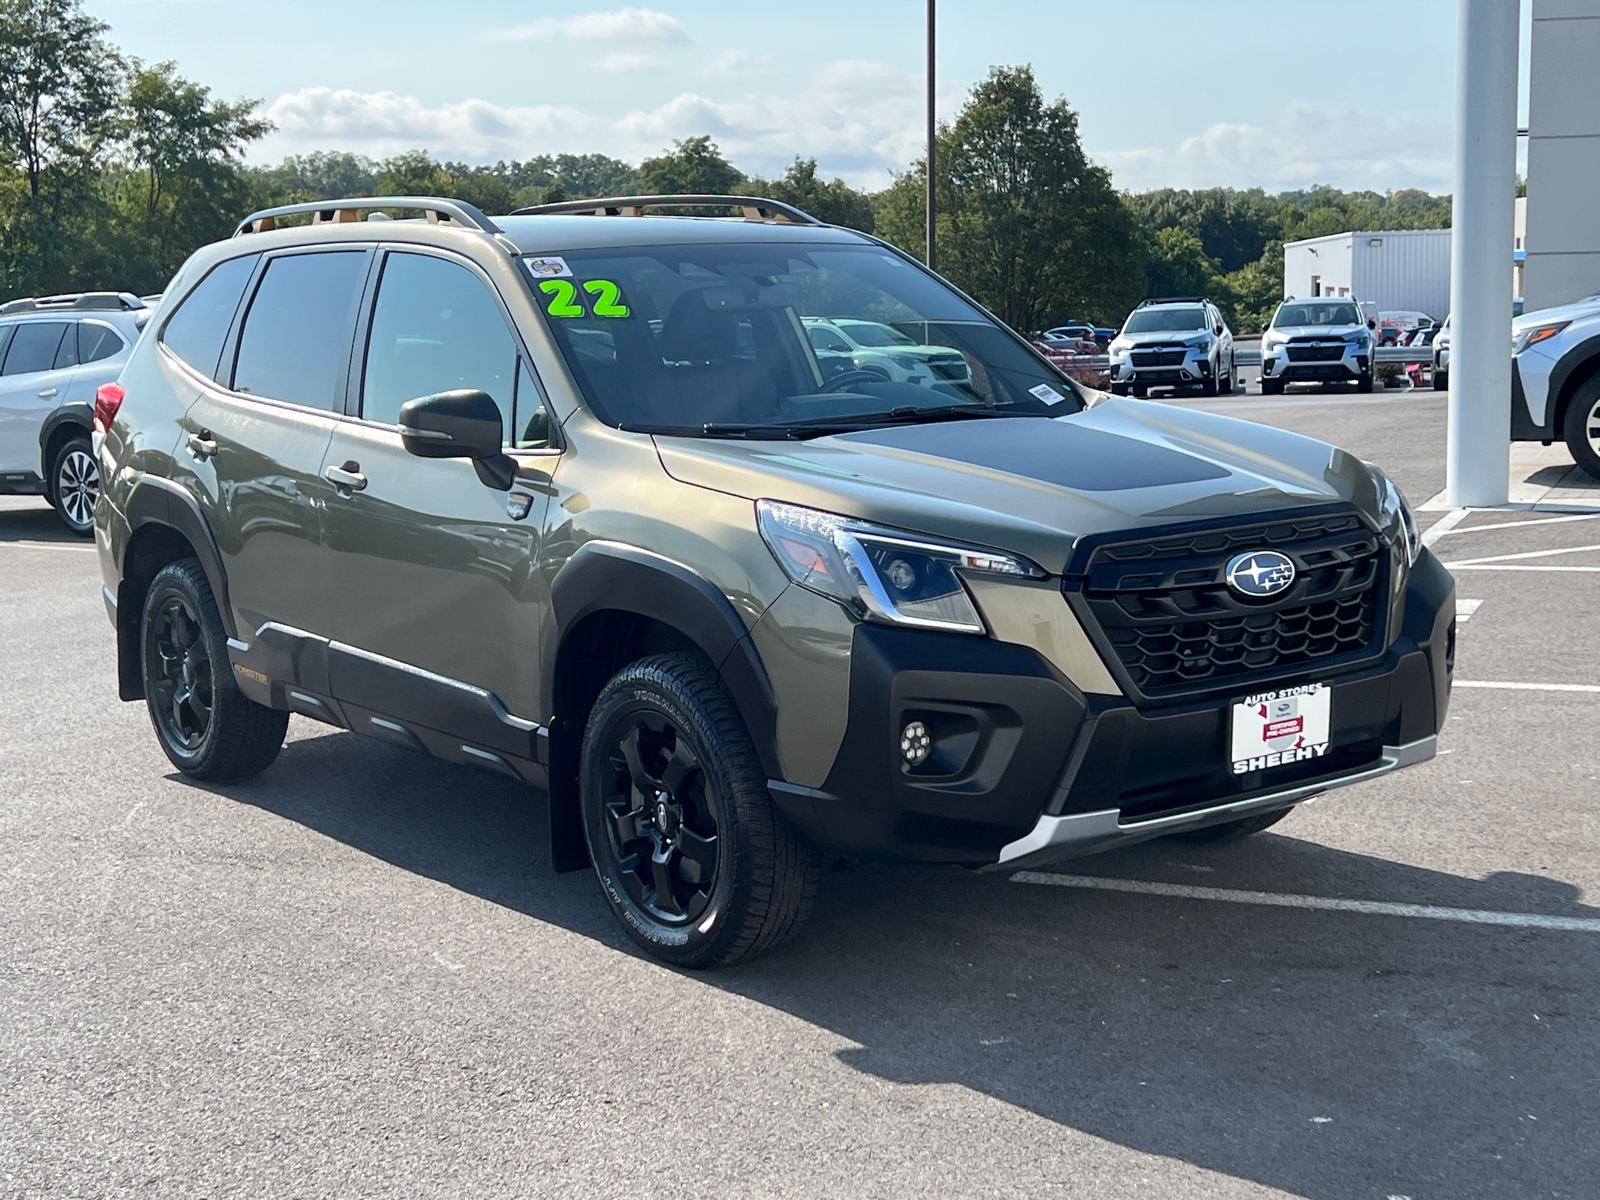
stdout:
[[1512,442],[1565,438],[1600,478],[1600,296],[1510,323]]

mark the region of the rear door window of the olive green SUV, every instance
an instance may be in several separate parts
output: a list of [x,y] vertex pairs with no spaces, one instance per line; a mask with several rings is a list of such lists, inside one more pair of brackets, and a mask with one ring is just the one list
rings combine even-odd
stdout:
[[365,277],[365,250],[272,259],[245,315],[234,390],[333,411]]

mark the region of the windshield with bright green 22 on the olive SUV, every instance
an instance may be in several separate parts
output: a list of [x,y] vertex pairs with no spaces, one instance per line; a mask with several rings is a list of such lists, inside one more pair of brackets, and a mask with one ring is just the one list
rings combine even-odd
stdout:
[[[923,410],[944,419],[1082,408],[1014,334],[878,246],[587,250],[539,258],[536,270],[534,299],[584,398],[622,429],[798,437]],[[862,347],[930,349],[858,350],[834,330]]]

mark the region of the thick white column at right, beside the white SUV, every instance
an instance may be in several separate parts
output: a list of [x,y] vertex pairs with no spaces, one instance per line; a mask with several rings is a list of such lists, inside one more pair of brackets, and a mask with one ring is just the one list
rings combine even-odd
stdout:
[[1510,270],[1518,0],[1456,0],[1445,499],[1504,504],[1510,475]]

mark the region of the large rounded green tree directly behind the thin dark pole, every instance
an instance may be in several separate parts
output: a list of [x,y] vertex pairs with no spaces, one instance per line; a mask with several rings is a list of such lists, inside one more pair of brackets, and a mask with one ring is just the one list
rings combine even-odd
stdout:
[[[939,130],[939,267],[1002,320],[1120,318],[1144,290],[1133,211],[1083,154],[1078,115],[1032,67],[994,67]],[[926,160],[877,206],[878,234],[922,254]]]

